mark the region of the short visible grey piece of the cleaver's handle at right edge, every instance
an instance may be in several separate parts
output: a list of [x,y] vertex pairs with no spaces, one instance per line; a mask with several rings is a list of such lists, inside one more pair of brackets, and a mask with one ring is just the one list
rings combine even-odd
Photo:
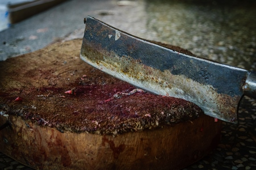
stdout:
[[256,98],[256,72],[249,72],[245,84],[243,85],[243,94]]

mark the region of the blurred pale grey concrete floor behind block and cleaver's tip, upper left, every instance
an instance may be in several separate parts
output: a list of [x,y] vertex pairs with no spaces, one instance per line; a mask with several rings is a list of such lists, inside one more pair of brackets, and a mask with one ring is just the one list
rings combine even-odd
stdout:
[[66,1],[0,32],[0,61],[33,52],[56,41],[82,38],[87,15],[142,36],[146,32],[144,9],[144,1]]

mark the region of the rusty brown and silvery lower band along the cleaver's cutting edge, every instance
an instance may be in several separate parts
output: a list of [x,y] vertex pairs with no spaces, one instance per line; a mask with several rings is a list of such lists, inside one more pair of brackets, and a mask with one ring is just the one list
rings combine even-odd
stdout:
[[[81,57],[90,65],[116,78],[125,80],[153,94],[172,96],[199,105],[205,114],[221,120],[236,122],[240,96],[218,94],[212,86],[200,84],[184,75],[173,75],[143,65],[129,56],[119,57],[94,44],[83,44]],[[167,95],[168,94],[168,95]]]

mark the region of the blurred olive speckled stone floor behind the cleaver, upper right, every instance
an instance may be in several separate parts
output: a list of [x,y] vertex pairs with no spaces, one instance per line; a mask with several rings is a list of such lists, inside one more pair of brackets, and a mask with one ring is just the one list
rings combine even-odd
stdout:
[[156,39],[221,63],[255,69],[256,7],[249,1],[150,1]]

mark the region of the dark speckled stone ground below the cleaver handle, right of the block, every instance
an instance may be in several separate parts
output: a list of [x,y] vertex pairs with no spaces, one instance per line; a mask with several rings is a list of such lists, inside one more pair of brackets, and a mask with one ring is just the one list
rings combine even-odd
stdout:
[[[256,169],[256,101],[241,101],[239,123],[223,122],[221,142],[208,156],[185,169]],[[253,114],[251,114],[253,113]]]

